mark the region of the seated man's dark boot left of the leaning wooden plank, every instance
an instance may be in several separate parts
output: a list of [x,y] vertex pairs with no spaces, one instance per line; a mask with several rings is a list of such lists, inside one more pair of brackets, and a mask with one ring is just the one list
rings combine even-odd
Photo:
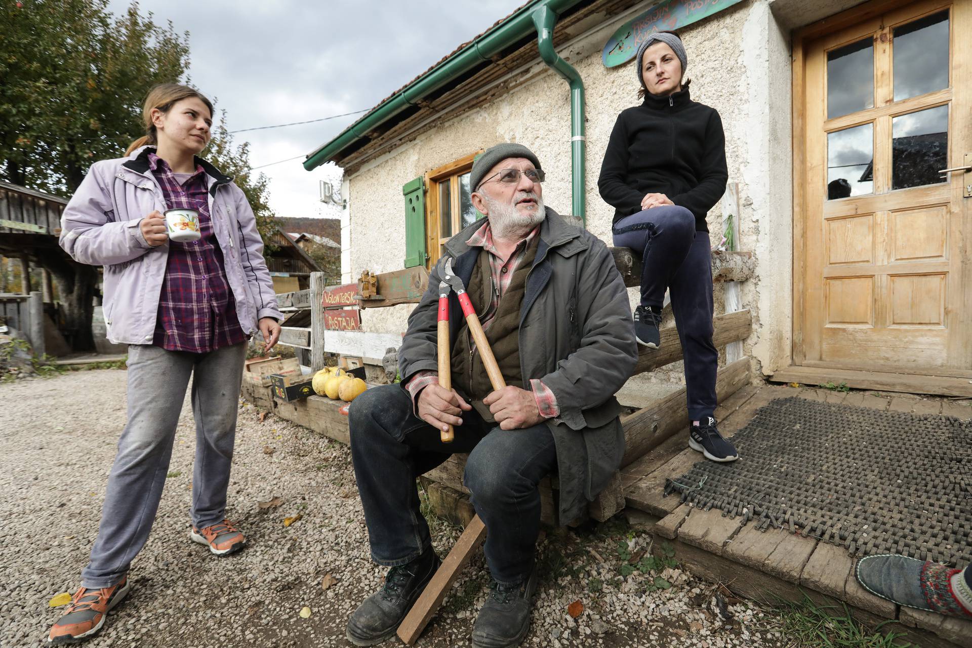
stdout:
[[373,646],[395,634],[441,563],[435,552],[427,549],[411,563],[389,569],[384,587],[365,598],[348,619],[348,641],[356,646]]

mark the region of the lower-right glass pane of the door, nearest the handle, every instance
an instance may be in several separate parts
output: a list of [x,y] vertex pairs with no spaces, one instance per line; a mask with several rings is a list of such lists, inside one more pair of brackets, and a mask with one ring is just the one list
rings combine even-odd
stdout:
[[891,188],[937,185],[949,164],[949,107],[936,106],[891,119]]

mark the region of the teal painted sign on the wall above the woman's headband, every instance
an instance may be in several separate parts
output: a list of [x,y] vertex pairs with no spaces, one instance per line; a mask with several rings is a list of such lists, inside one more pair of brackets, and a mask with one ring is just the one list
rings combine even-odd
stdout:
[[[623,65],[635,57],[638,46],[656,31],[672,31],[732,7],[742,0],[662,0],[614,32],[602,53],[605,67]],[[689,55],[691,59],[691,55]]]

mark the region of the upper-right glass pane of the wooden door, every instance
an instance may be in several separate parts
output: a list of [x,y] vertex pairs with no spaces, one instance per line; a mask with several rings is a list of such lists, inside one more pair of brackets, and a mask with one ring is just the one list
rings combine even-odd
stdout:
[[894,100],[949,86],[949,11],[894,28]]

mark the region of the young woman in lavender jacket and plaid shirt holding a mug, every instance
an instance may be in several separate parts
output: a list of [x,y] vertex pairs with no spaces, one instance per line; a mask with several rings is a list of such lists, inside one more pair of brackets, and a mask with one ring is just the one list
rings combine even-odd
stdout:
[[[49,634],[77,643],[128,593],[128,566],[149,537],[192,378],[196,450],[190,537],[218,556],[243,534],[225,517],[247,341],[280,335],[273,283],[243,191],[197,155],[213,106],[186,85],[156,86],[147,135],[126,157],[95,162],[61,218],[60,245],[104,266],[108,337],[128,344],[128,422],[108,479],[81,588]],[[162,214],[192,210],[200,236],[169,240]]]

